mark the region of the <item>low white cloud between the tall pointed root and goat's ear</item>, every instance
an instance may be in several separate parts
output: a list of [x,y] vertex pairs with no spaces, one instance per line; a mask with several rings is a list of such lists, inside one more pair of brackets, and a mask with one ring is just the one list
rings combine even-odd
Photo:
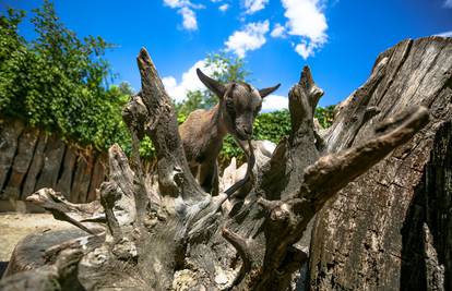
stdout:
[[204,74],[212,75],[213,72],[218,72],[225,70],[225,66],[222,65],[205,65],[205,61],[201,60],[195,62],[187,72],[182,73],[180,82],[177,82],[176,77],[174,76],[165,76],[162,78],[162,82],[165,86],[166,92],[168,95],[176,100],[176,102],[180,102],[187,97],[187,92],[189,90],[198,90],[198,89],[205,89],[205,86],[199,80],[197,75],[197,69],[201,69]]

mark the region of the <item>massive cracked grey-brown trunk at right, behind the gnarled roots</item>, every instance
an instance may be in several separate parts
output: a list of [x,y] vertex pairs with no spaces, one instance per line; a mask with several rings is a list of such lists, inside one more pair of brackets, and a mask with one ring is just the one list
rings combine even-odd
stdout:
[[[411,105],[429,108],[431,121],[321,210],[311,241],[311,289],[426,289],[424,222],[431,230],[438,262],[451,262],[451,241],[444,239],[452,223],[444,216],[451,207],[450,128],[441,125],[452,119],[451,76],[451,38],[405,40],[378,58],[372,76],[342,106],[326,134],[329,151],[367,140],[373,124]],[[360,95],[364,90],[370,94]],[[359,121],[356,113],[372,106],[381,112],[353,125]],[[435,162],[429,161],[432,157]],[[431,171],[439,175],[431,177]],[[452,266],[444,267],[448,290]]]

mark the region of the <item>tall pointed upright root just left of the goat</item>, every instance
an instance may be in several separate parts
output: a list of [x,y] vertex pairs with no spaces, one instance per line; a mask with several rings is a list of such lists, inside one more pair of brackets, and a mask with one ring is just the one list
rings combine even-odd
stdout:
[[[171,100],[146,49],[141,49],[136,60],[141,75],[141,98],[147,110],[144,130],[157,151],[160,194],[173,197],[180,194],[187,201],[203,199],[207,194],[190,172]],[[139,108],[145,113],[142,107]],[[179,182],[175,181],[176,174]]]

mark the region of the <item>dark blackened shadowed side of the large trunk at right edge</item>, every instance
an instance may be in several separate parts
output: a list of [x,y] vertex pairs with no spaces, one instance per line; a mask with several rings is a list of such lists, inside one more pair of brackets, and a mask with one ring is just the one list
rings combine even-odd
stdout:
[[[420,166],[420,165],[419,165]],[[405,169],[405,172],[409,169]],[[401,287],[452,288],[452,121],[438,129],[401,230]]]

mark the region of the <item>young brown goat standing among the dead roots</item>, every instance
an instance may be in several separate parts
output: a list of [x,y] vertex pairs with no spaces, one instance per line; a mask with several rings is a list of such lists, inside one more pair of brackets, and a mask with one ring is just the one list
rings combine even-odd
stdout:
[[258,90],[245,82],[222,84],[206,76],[200,69],[197,69],[197,74],[219,101],[210,110],[198,109],[191,112],[179,126],[179,133],[193,175],[206,192],[216,194],[216,159],[224,137],[229,133],[249,156],[247,142],[252,137],[252,125],[262,108],[262,99],[281,84]]

